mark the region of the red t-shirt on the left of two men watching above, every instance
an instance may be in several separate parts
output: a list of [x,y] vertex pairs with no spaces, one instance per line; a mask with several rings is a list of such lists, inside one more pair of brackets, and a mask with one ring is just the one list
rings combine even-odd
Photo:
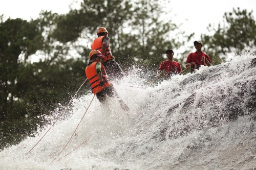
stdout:
[[182,71],[181,69],[181,65],[179,62],[177,61],[169,61],[169,60],[166,60],[166,61],[163,61],[161,64],[160,64],[160,67],[158,68],[159,70],[164,70],[164,75],[165,76],[170,76],[170,75],[173,75],[173,74],[178,74]]

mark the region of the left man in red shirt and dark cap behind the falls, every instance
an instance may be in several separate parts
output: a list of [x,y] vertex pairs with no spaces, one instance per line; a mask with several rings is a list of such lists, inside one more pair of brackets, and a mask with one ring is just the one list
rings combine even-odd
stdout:
[[174,52],[173,50],[168,49],[165,52],[168,60],[163,61],[157,71],[157,78],[160,77],[160,72],[162,70],[164,70],[164,77],[165,78],[170,78],[173,75],[177,75],[180,74],[180,72],[182,71],[181,69],[181,65],[179,62],[174,61],[173,57],[174,57]]

